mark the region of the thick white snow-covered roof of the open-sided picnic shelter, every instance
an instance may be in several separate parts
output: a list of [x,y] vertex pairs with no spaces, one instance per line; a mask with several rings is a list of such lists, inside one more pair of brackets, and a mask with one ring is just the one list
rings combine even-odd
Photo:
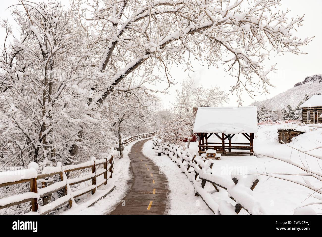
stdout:
[[256,106],[199,107],[193,131],[194,133],[256,133]]

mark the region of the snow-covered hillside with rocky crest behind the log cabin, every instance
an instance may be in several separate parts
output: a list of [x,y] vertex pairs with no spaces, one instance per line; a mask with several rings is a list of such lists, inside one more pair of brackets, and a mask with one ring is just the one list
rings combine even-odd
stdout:
[[292,106],[292,108],[296,108],[298,103],[304,99],[306,94],[311,97],[314,93],[322,93],[322,82],[320,82],[321,78],[319,79],[317,76],[322,75],[306,77],[304,81],[295,84],[294,87],[289,90],[269,99],[272,109],[284,109],[288,105]]

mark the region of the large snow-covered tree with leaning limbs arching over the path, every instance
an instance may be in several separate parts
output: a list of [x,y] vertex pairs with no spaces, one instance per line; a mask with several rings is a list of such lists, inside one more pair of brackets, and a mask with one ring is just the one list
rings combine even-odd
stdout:
[[278,10],[280,0],[98,0],[71,5],[84,34],[92,38],[82,60],[98,68],[91,87],[95,104],[108,100],[113,90],[125,84],[129,91],[146,89],[147,83],[156,85],[161,78],[153,73],[155,69],[165,74],[170,85],[171,66],[181,64],[191,70],[190,58],[209,66],[222,62],[236,79],[231,93],[241,104],[242,91],[250,96],[256,86],[267,91],[269,72],[276,67],[264,66],[269,54],[301,54],[301,46],[311,41],[295,36],[303,16],[288,20],[289,10]]

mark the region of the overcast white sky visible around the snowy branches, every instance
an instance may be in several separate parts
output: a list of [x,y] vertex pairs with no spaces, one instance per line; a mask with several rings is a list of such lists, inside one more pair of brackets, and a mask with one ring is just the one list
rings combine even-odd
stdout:
[[[1,1],[0,14],[1,18],[10,17],[9,10],[5,10],[8,6],[14,4],[15,1]],[[61,1],[67,2],[66,0]],[[284,0],[282,2],[282,9],[289,8],[291,12],[289,17],[305,14],[304,25],[298,29],[297,36],[300,38],[306,38],[308,36],[315,36],[312,42],[303,48],[305,55],[287,54],[272,57],[266,63],[273,65],[277,63],[277,74],[272,73],[270,76],[271,83],[275,88],[270,88],[270,94],[258,95],[256,100],[264,100],[271,98],[289,88],[293,87],[295,83],[303,81],[306,76],[321,74],[322,69],[322,0]],[[3,31],[0,31],[0,34]],[[1,35],[2,36],[2,35]],[[3,39],[3,37],[0,37]],[[231,85],[235,84],[235,80],[225,75],[223,68],[216,69],[215,67],[202,66],[201,62],[194,62],[194,73],[191,74],[196,83],[201,83],[205,87],[207,86],[220,86],[223,90],[230,89]],[[181,67],[173,68],[171,71],[173,78],[178,82],[175,87],[169,90],[170,95],[162,97],[163,106],[168,108],[171,101],[175,99],[175,89],[180,90],[180,81],[188,77],[188,73],[181,70]],[[226,106],[237,106],[236,95],[230,95],[230,102]],[[252,100],[246,94],[243,96],[243,105],[249,105]]]

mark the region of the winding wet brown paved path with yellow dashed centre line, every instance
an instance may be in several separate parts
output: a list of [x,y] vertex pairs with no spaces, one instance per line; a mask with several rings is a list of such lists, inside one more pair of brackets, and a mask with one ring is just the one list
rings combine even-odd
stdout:
[[148,141],[135,143],[128,154],[131,160],[131,189],[110,214],[164,214],[169,194],[168,182],[159,168],[142,154],[142,146]]

